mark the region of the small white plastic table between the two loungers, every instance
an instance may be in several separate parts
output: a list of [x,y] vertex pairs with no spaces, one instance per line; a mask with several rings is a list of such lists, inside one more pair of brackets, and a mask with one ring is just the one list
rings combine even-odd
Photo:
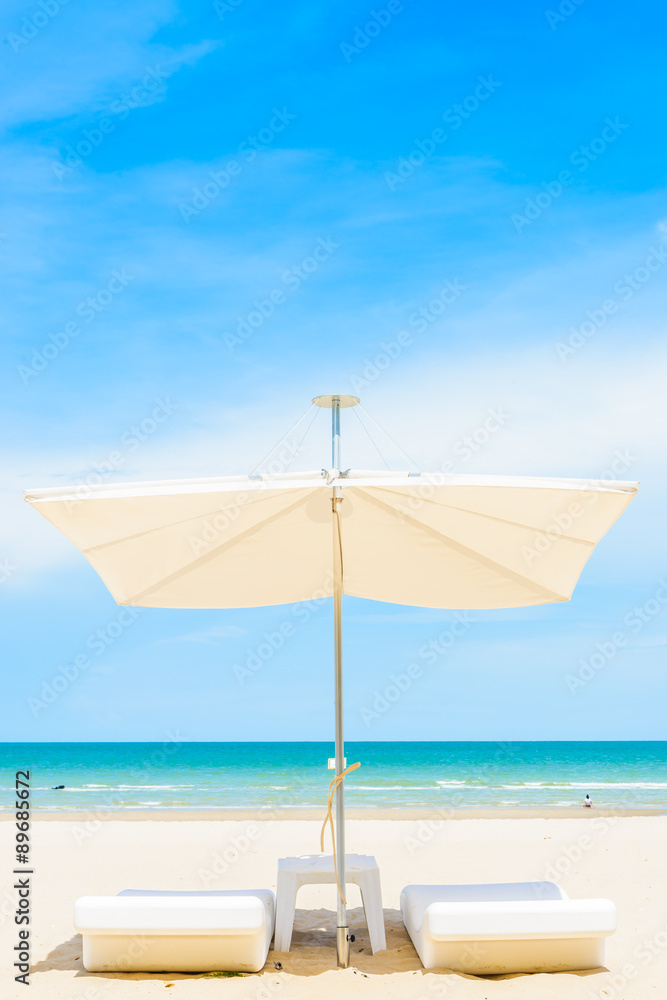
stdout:
[[[290,949],[296,894],[300,887],[335,883],[335,881],[336,873],[331,854],[303,854],[298,858],[278,859],[276,937],[273,945],[276,951]],[[358,885],[361,890],[373,954],[384,951],[387,941],[384,936],[380,871],[375,858],[369,854],[346,854],[345,881]]]

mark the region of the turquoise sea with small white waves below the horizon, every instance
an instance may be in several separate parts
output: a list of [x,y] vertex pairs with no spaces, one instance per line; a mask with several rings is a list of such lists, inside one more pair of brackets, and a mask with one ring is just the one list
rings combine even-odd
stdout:
[[[0,784],[30,773],[35,812],[322,808],[331,743],[3,743]],[[667,742],[348,743],[350,809],[667,811]],[[56,786],[62,785],[63,788]],[[5,809],[10,809],[6,805]]]

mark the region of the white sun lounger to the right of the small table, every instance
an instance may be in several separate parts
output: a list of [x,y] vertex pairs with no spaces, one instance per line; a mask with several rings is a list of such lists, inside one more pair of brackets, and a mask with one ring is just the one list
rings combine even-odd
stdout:
[[609,899],[570,899],[554,882],[409,885],[403,922],[426,969],[472,975],[572,972],[604,964]]

